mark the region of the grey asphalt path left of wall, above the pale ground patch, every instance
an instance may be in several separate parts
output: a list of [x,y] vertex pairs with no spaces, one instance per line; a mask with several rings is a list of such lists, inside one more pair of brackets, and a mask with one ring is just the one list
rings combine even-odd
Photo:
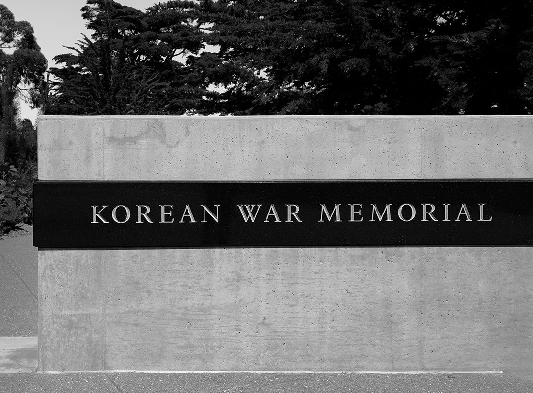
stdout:
[[31,235],[0,240],[0,337],[37,335],[37,248]]

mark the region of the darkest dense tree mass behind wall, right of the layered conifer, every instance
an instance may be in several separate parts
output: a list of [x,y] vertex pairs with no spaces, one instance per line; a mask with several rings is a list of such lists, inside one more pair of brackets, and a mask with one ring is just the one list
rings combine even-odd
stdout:
[[[204,3],[232,114],[529,114],[532,4]],[[220,67],[219,67],[220,68]]]

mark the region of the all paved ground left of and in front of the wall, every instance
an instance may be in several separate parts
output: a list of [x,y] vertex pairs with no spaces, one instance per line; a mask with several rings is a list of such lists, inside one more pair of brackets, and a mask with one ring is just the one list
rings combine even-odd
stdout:
[[533,393],[533,381],[508,374],[36,373],[37,249],[32,240],[31,235],[0,240],[0,393]]

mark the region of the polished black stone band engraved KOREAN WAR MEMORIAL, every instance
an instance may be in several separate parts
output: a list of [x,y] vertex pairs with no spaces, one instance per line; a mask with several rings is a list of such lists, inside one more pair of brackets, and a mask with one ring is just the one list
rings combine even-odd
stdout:
[[529,180],[36,182],[42,248],[531,245]]

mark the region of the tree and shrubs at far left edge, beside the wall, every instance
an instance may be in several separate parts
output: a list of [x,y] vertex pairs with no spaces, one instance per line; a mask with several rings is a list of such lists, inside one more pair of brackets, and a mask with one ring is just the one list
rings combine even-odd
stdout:
[[0,233],[32,219],[37,134],[18,103],[40,104],[46,67],[33,27],[0,5]]

